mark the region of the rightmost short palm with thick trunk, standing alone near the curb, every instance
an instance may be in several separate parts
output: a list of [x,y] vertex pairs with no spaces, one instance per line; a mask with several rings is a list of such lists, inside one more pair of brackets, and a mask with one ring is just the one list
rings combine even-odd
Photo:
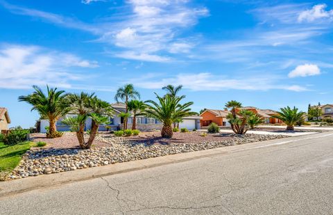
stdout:
[[287,125],[287,131],[293,131],[295,128],[294,126],[305,117],[305,113],[302,111],[298,111],[296,107],[291,109],[289,106],[280,109],[278,114],[274,116],[279,120],[282,120]]

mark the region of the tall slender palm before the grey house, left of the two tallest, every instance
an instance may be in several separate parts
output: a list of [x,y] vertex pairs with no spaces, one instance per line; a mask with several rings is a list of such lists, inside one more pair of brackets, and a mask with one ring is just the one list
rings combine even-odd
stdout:
[[[128,99],[139,99],[140,94],[137,90],[135,90],[133,84],[126,84],[125,86],[122,86],[117,90],[116,95],[114,95],[114,99],[119,102],[119,99],[121,99],[123,102],[125,102],[126,105],[126,111],[125,113],[128,113]],[[127,119],[123,121],[123,129],[127,129]]]

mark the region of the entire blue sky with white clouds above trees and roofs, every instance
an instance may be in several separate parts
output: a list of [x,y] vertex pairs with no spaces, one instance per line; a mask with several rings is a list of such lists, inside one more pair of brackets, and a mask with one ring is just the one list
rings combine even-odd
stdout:
[[109,102],[125,83],[143,100],[182,84],[194,111],[333,103],[332,1],[0,0],[0,14],[11,126],[35,124],[17,102],[34,84]]

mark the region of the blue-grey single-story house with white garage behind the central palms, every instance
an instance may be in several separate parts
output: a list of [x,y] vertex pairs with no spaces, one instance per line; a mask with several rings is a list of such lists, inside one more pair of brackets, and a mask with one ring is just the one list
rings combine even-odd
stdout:
[[[124,103],[114,103],[111,104],[112,108],[114,109],[114,116],[110,117],[110,124],[109,125],[100,125],[99,131],[107,131],[110,130],[118,130],[123,127],[123,118],[119,117],[119,113],[123,113],[126,111],[126,106]],[[60,118],[56,123],[57,130],[59,132],[67,132],[70,130],[68,125],[62,123],[64,118],[71,118],[76,117],[76,113],[68,113],[65,117]],[[155,118],[147,118],[145,116],[137,116],[136,117],[136,128],[142,131],[148,131],[153,129],[162,129],[162,123],[156,120]],[[49,126],[48,120],[39,120],[37,122],[40,124],[40,132],[46,133],[45,127]],[[133,125],[133,116],[128,118],[128,129],[131,129]],[[108,127],[107,127],[108,126]],[[188,116],[182,119],[182,122],[179,124],[180,128],[186,127],[187,129],[200,129],[200,116]],[[87,118],[85,122],[85,131],[92,128],[92,120]]]

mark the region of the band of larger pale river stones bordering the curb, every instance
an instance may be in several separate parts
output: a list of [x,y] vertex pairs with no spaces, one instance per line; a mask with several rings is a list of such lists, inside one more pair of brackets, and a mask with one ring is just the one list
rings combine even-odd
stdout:
[[105,166],[109,164],[159,157],[167,154],[208,150],[228,145],[267,141],[284,138],[282,135],[235,134],[226,135],[221,141],[206,141],[203,143],[171,143],[167,145],[146,145],[127,141],[124,138],[97,136],[99,141],[108,143],[110,147],[89,150],[78,149],[33,149],[22,158],[19,166],[8,175],[9,179],[37,176],[64,171]]

